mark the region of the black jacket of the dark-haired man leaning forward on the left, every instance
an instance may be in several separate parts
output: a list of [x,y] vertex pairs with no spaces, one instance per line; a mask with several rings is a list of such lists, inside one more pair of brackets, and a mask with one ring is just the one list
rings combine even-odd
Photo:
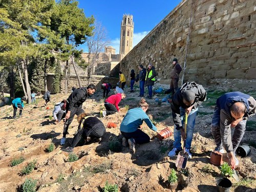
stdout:
[[82,87],[74,90],[67,99],[67,102],[69,103],[67,105],[67,111],[72,111],[73,108],[78,108],[84,101],[86,101],[87,97],[87,88]]

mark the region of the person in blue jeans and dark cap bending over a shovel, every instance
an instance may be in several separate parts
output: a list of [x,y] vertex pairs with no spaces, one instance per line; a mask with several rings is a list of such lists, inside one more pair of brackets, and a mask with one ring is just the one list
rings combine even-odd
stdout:
[[[206,91],[203,86],[196,82],[186,82],[178,88],[172,97],[172,115],[174,119],[174,143],[173,149],[168,153],[169,157],[177,155],[181,150],[181,138],[185,140],[185,151],[191,158],[189,152],[193,139],[194,126],[198,112],[198,106],[206,100]],[[186,133],[183,129],[185,113],[187,117]]]

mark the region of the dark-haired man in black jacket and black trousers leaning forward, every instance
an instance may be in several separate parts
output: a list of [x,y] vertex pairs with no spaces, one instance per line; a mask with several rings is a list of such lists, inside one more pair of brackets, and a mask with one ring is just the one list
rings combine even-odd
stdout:
[[66,105],[66,122],[63,127],[63,137],[60,140],[60,145],[65,144],[66,135],[68,134],[69,125],[74,119],[75,115],[80,115],[84,113],[82,109],[82,103],[86,101],[89,95],[92,95],[96,91],[94,84],[89,84],[87,88],[79,88],[74,90],[69,98],[67,99]]

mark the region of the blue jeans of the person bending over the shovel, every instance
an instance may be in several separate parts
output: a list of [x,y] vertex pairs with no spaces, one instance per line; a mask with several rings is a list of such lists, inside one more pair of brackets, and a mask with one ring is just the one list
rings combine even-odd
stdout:
[[[187,148],[188,150],[191,147],[191,142],[193,139],[193,133],[194,133],[197,112],[198,112],[198,108],[195,110],[193,109],[193,110],[191,110],[191,112],[189,113],[189,115],[187,117],[187,133],[186,133],[187,138],[186,138],[185,148]],[[183,124],[183,118],[185,117],[184,116],[185,109],[180,108],[180,115],[181,115],[181,122]],[[182,150],[182,148],[181,148],[181,132],[180,132],[180,130],[176,129],[176,125],[174,126],[174,147],[176,147],[178,150]]]

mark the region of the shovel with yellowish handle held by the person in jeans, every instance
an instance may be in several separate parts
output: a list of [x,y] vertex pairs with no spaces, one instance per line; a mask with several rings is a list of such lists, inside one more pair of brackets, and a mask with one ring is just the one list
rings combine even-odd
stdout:
[[[187,133],[187,113],[185,113],[185,134]],[[176,160],[177,168],[186,168],[188,153],[185,151],[186,140],[184,140],[183,151],[180,151]]]

